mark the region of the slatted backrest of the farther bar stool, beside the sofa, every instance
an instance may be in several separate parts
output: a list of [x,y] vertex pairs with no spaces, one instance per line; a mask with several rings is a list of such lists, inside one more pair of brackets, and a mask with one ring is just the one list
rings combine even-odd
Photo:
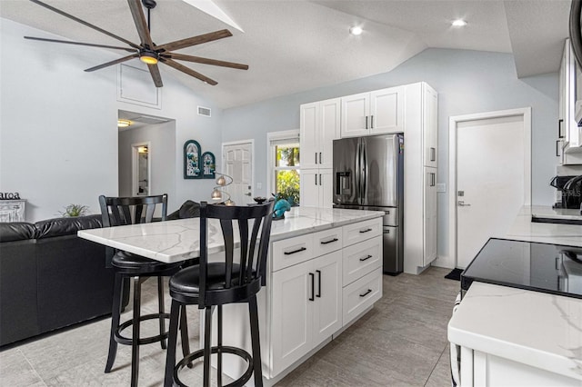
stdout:
[[156,206],[161,204],[160,220],[167,215],[167,194],[156,196],[107,197],[99,196],[103,226],[112,227],[126,224],[151,223]]

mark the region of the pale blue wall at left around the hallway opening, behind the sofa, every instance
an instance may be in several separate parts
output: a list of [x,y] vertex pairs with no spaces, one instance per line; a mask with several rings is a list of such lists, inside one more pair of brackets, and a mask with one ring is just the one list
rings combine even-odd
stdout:
[[[174,70],[164,65],[161,109],[117,101],[117,66],[83,71],[120,57],[117,53],[35,42],[24,35],[52,37],[0,19],[0,192],[27,199],[26,221],[59,216],[69,203],[99,213],[97,196],[118,194],[119,109],[176,120],[176,152],[166,154],[174,158],[174,170],[166,174],[173,174],[175,186],[159,187],[175,190],[169,212],[187,199],[209,197],[212,180],[183,178],[182,149],[186,140],[195,139],[204,151],[220,154],[216,104],[176,82]],[[212,108],[212,117],[198,115],[197,105]]]

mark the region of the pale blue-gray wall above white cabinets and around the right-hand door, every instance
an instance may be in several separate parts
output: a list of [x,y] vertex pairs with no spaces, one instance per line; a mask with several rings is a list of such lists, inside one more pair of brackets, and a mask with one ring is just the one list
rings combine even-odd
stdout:
[[[426,81],[438,92],[438,182],[448,189],[448,119],[453,115],[532,107],[532,202],[551,204],[555,174],[558,77],[517,79],[513,56],[466,50],[427,49],[393,71],[345,84],[227,109],[223,141],[254,138],[256,183],[266,186],[266,133],[299,127],[299,104]],[[255,194],[266,195],[263,190]],[[447,193],[438,196],[438,254],[448,256]]]

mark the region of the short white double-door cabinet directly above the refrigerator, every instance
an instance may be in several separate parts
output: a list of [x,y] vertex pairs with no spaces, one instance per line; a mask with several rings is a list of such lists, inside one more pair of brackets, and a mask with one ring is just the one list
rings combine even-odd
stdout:
[[404,86],[342,97],[341,137],[404,132]]

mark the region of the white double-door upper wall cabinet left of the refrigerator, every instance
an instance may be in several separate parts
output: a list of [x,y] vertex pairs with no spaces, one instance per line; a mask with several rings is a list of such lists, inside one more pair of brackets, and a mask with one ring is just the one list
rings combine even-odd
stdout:
[[339,109],[339,98],[301,105],[301,169],[332,168],[333,142],[339,138]]

